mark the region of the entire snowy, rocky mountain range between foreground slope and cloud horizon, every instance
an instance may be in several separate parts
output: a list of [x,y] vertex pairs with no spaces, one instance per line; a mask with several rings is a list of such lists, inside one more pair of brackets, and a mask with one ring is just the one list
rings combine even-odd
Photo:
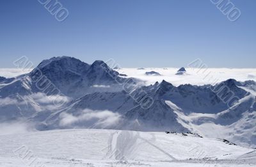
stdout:
[[0,121],[38,131],[95,128],[196,132],[256,147],[256,83],[145,85],[104,61],[67,56],[44,60],[29,74],[0,77]]

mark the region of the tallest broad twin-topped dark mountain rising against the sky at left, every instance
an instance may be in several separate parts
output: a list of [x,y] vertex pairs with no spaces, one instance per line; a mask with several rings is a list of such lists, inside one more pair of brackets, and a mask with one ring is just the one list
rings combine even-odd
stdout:
[[[38,85],[47,88],[51,84],[52,90],[57,90],[56,92],[61,92],[72,98],[83,97],[87,93],[95,91],[119,91],[121,86],[118,86],[116,80],[125,80],[125,78],[119,77],[118,72],[109,68],[104,61],[97,60],[89,65],[68,56],[44,60],[28,75],[16,79],[21,81],[27,76],[28,79],[25,80],[31,81],[31,84],[26,84],[29,87],[26,90],[31,90],[31,93],[42,91]],[[6,92],[10,92],[10,90],[23,90],[23,83],[23,81],[8,83],[7,87],[4,85],[6,88],[0,91],[0,96],[6,97],[8,94]],[[113,86],[110,87],[109,85]],[[13,88],[13,86],[16,87]]]

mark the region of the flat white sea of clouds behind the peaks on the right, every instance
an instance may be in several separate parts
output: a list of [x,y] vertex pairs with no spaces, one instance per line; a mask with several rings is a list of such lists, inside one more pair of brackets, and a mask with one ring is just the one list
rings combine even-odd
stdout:
[[[186,67],[185,67],[186,68]],[[120,74],[127,74],[128,77],[134,77],[145,81],[146,84],[161,82],[163,79],[175,86],[180,84],[204,85],[212,84],[214,81],[225,81],[227,79],[236,79],[237,81],[246,81],[253,79],[256,81],[256,68],[186,68],[188,75],[177,76],[179,68],[121,68],[117,71]],[[145,72],[155,71],[162,76],[147,76]]]

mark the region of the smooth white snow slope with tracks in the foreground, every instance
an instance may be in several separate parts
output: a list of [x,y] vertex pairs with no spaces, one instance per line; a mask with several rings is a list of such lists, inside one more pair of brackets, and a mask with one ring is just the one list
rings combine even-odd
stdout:
[[4,167],[256,165],[252,148],[195,134],[58,130],[3,135],[0,145]]

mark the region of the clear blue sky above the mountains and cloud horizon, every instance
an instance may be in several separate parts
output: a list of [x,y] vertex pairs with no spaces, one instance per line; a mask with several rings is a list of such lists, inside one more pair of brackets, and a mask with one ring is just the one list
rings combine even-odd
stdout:
[[256,1],[232,0],[230,22],[210,0],[59,0],[58,22],[37,0],[1,0],[0,68],[20,56],[35,64],[53,56],[87,63],[113,58],[121,67],[256,68]]

